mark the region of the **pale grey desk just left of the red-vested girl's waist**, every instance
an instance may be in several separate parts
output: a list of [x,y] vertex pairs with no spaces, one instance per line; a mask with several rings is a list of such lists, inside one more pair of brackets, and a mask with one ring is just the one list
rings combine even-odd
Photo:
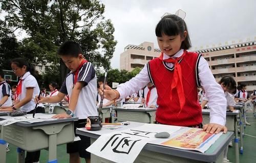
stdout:
[[156,108],[122,108],[117,107],[117,121],[125,122],[141,122],[154,123],[156,121]]

